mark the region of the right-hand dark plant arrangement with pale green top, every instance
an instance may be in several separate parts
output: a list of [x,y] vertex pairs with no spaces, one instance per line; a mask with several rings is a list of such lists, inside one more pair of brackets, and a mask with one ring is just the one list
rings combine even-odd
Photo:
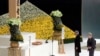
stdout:
[[51,11],[50,15],[53,19],[54,30],[55,31],[61,31],[61,29],[62,29],[61,17],[63,16],[61,11],[59,11],[59,10]]

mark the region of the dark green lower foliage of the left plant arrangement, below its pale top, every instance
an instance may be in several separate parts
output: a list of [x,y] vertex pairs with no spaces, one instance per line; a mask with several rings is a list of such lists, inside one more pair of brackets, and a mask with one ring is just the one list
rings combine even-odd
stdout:
[[19,30],[19,25],[9,24],[9,27],[10,27],[10,34],[11,34],[10,41],[23,42],[23,37],[22,37],[20,30]]

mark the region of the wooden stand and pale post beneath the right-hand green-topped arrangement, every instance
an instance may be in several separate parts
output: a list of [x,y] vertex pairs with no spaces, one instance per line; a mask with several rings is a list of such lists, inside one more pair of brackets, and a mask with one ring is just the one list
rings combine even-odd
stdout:
[[53,40],[58,40],[58,53],[65,54],[64,51],[64,27],[62,28],[62,32],[54,31]]

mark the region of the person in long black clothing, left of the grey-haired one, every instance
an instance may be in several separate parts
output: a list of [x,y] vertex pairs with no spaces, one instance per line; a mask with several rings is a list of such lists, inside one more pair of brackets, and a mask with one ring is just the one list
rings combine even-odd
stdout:
[[81,44],[80,44],[80,35],[79,35],[79,31],[75,31],[75,56],[79,56],[79,53],[81,52]]

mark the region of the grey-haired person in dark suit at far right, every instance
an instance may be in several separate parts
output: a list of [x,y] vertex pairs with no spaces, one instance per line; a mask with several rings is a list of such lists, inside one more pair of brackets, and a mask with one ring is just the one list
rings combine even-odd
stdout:
[[89,51],[89,56],[94,56],[94,49],[96,48],[96,41],[93,38],[92,33],[88,34],[87,47]]

